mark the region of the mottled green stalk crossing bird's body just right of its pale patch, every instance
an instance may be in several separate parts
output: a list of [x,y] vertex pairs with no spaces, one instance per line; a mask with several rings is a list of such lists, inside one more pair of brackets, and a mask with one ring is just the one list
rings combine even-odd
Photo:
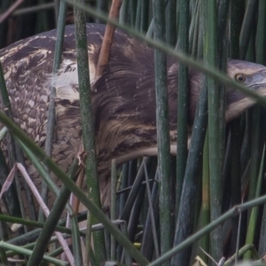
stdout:
[[[84,3],[83,0],[76,2]],[[80,90],[80,109],[82,119],[82,138],[84,150],[87,153],[86,178],[87,187],[90,188],[89,198],[101,207],[98,169],[95,147],[95,132],[90,93],[90,69],[87,44],[86,15],[81,9],[74,7],[75,43],[77,53],[77,69]],[[91,216],[91,224],[97,223],[96,218]],[[90,245],[90,238],[86,239],[86,246]],[[105,237],[102,231],[93,233],[94,254],[98,264],[106,260]]]

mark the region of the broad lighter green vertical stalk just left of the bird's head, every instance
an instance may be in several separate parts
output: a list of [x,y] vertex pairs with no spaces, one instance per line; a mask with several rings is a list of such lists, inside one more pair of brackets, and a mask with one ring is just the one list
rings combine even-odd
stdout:
[[[217,5],[215,0],[207,0],[205,60],[209,66],[217,66]],[[219,91],[215,80],[207,77],[208,102],[208,141],[209,141],[209,175],[210,175],[210,219],[215,220],[222,214],[221,193],[221,139],[219,138]],[[211,256],[215,261],[222,257],[222,228],[218,227],[210,234]]]

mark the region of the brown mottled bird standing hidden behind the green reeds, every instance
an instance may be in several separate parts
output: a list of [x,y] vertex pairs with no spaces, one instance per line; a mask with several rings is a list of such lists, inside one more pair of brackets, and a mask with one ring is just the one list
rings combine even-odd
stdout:
[[[90,82],[96,132],[100,189],[109,191],[111,160],[118,164],[157,153],[153,49],[116,30],[108,65],[96,81],[98,55],[105,26],[88,24]],[[67,170],[78,153],[82,127],[79,110],[74,26],[67,26],[62,63],[51,79],[56,31],[35,35],[0,51],[4,79],[15,121],[37,145],[44,146],[51,83],[57,90],[56,129],[52,158]],[[176,153],[178,62],[168,58],[168,112],[171,153]],[[228,75],[251,90],[266,94],[266,67],[239,60],[229,61]],[[190,70],[189,122],[192,125],[202,74]],[[254,101],[237,90],[227,94],[226,120],[252,106]],[[40,188],[41,177],[33,166],[29,175]],[[107,197],[108,198],[108,197]]]

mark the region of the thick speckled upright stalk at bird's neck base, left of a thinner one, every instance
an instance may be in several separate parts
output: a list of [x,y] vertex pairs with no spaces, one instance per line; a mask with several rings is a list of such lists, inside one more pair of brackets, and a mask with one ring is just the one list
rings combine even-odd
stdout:
[[[165,42],[164,2],[153,1],[154,39]],[[161,51],[154,51],[156,124],[158,143],[159,202],[160,202],[160,254],[172,245],[173,219],[170,209],[170,140],[168,126],[167,58]],[[163,265],[169,265],[165,263]]]

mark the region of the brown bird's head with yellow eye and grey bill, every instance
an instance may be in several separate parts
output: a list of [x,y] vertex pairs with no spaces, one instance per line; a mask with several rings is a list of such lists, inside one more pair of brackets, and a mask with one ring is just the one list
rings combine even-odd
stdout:
[[[236,82],[254,90],[262,97],[266,96],[266,66],[241,60],[228,62],[227,74]],[[239,90],[229,89],[227,92],[226,121],[231,121],[254,105],[254,99],[247,98]]]

